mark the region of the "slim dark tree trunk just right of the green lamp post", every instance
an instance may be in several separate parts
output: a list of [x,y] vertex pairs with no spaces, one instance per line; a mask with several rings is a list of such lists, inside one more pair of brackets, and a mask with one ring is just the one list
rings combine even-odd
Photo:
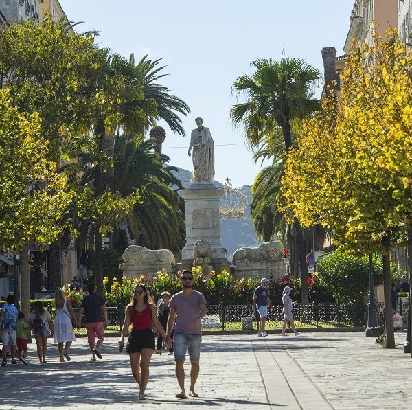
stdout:
[[393,332],[393,312],[391,298],[391,261],[389,253],[391,251],[391,238],[387,234],[383,238],[383,294],[385,299],[385,328],[386,328],[386,348],[395,348],[395,333]]

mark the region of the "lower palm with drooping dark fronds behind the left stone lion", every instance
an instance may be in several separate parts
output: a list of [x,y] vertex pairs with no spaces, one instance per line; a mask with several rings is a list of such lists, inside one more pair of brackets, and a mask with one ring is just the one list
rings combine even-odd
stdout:
[[[185,243],[184,203],[177,192],[181,183],[172,173],[176,168],[168,166],[169,158],[157,155],[153,148],[154,142],[150,139],[136,146],[126,135],[116,136],[115,190],[128,196],[144,188],[143,202],[135,205],[127,216],[126,229],[130,228],[135,244],[177,253]],[[84,155],[82,163],[82,185],[93,184],[93,157]],[[79,231],[78,249],[84,249],[93,242],[95,224],[92,220],[83,220]],[[113,243],[122,253],[128,241],[115,229]]]

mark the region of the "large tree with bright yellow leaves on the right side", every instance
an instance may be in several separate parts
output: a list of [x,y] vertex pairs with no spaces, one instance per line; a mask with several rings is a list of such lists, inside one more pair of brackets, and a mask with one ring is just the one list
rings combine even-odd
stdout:
[[304,124],[282,181],[290,217],[327,227],[341,247],[382,253],[387,348],[395,347],[389,251],[398,231],[412,255],[411,67],[411,49],[395,30],[354,45],[341,94]]

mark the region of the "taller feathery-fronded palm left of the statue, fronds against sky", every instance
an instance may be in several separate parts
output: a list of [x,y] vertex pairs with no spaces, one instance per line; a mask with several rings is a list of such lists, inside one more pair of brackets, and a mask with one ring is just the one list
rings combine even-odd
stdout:
[[[133,54],[127,60],[119,54],[111,54],[108,49],[103,53],[106,64],[102,67],[98,87],[119,100],[116,107],[119,122],[108,129],[104,115],[96,118],[94,133],[100,150],[113,158],[117,131],[124,130],[138,144],[143,141],[149,126],[158,119],[163,119],[175,133],[184,136],[179,114],[186,115],[190,109],[183,100],[171,95],[167,87],[156,83],[166,75],[159,73],[164,68],[158,66],[160,60],[148,60],[145,56],[135,65]],[[120,80],[121,85],[113,87],[115,80]],[[103,174],[101,159],[95,166],[94,187],[96,197],[100,197],[104,190],[113,192],[115,189],[114,170],[109,167]],[[95,220],[95,280],[98,291],[102,292],[102,236],[99,228],[100,221]]]

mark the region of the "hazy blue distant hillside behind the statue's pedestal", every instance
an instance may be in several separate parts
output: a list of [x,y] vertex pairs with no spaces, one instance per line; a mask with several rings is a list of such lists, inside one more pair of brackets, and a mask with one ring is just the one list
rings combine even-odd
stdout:
[[[175,172],[177,179],[181,181],[183,187],[190,185],[190,172],[179,168]],[[219,181],[214,181],[214,185],[223,187]],[[238,188],[248,200],[246,214],[244,218],[223,219],[220,220],[220,236],[222,237],[222,245],[227,249],[227,259],[231,260],[231,255],[240,247],[255,247],[260,242],[256,238],[255,229],[250,218],[250,204],[252,201],[251,186],[243,185]]]

